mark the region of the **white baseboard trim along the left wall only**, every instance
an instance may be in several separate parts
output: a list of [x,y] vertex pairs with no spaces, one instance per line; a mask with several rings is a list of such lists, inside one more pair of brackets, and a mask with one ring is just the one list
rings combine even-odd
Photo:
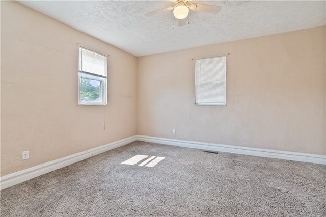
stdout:
[[5,189],[15,184],[19,184],[29,179],[38,177],[40,175],[58,170],[60,168],[74,164],[75,162],[84,160],[86,158],[92,157],[97,154],[101,154],[105,151],[118,148],[120,146],[126,145],[136,140],[137,140],[137,135],[133,135],[132,137],[128,137],[126,139],[118,140],[116,142],[112,142],[106,145],[92,148],[87,151],[79,152],[60,159],[52,160],[50,162],[46,162],[45,164],[41,164],[35,167],[31,167],[25,170],[8,174],[6,176],[0,177],[0,189]]

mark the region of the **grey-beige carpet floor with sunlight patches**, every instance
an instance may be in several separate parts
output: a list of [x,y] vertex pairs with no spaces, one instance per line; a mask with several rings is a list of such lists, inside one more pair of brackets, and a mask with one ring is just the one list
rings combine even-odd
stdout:
[[325,165],[137,141],[3,189],[0,200],[1,216],[324,217],[325,189]]

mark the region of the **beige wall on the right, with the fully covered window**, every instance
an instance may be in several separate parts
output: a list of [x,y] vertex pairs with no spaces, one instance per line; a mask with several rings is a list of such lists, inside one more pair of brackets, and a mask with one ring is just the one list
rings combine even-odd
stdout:
[[[138,134],[325,155],[325,29],[140,57]],[[227,106],[194,105],[194,60],[224,55]]]

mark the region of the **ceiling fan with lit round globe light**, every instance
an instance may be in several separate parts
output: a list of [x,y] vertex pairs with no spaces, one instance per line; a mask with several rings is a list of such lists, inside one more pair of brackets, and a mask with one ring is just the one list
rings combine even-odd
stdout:
[[189,9],[193,11],[201,11],[201,12],[207,12],[212,14],[217,14],[221,11],[221,6],[204,5],[204,4],[197,4],[197,3],[188,5],[188,2],[191,0],[171,0],[171,1],[174,2],[175,4],[174,6],[149,12],[145,14],[145,16],[153,16],[173,9],[173,15],[175,18],[178,19],[178,26],[183,26],[186,24],[185,18],[189,14]]

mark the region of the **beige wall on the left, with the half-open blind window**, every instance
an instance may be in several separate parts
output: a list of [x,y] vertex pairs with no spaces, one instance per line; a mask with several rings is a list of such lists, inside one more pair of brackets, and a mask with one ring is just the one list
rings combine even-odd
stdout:
[[[77,43],[110,55],[106,106],[78,106]],[[135,135],[136,70],[129,53],[1,1],[1,176]]]

